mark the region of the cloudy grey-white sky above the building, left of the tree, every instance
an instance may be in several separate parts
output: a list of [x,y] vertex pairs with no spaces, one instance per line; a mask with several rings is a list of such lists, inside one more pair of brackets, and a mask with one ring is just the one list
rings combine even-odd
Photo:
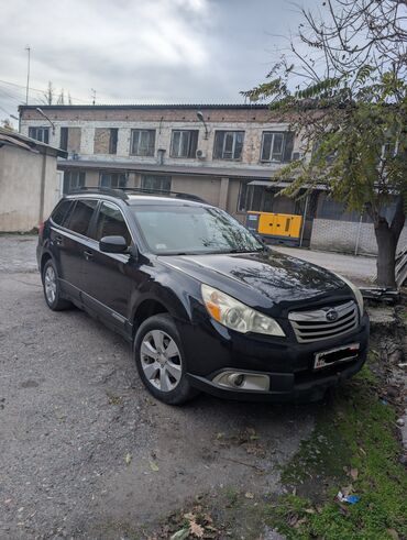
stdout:
[[50,80],[74,103],[242,102],[299,18],[287,0],[3,1],[0,119],[25,102],[28,45],[31,103]]

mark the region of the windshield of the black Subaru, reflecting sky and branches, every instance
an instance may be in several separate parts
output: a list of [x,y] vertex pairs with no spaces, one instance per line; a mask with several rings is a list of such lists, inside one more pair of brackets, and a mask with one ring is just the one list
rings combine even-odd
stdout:
[[248,229],[218,208],[187,205],[131,208],[145,242],[158,255],[249,253],[264,249]]

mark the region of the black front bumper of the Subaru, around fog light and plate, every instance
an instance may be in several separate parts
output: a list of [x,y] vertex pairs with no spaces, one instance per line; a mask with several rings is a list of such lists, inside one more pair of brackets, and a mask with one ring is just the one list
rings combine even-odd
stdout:
[[[228,331],[210,323],[180,329],[188,362],[190,384],[206,393],[228,399],[252,401],[315,401],[328,388],[352,377],[363,366],[367,355],[369,318],[346,335],[314,343],[297,343],[288,339],[254,338]],[[188,328],[189,327],[189,328]],[[314,370],[315,354],[337,346],[360,343],[356,360]],[[213,383],[226,370],[270,377],[268,390],[229,388]]]

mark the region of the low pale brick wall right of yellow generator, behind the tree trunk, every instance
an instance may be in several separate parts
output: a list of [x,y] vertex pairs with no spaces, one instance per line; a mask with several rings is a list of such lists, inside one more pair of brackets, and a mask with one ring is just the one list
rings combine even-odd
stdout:
[[[372,223],[315,219],[311,234],[311,249],[354,253],[358,242],[360,255],[376,255],[377,244]],[[398,250],[407,245],[407,227],[404,228]]]

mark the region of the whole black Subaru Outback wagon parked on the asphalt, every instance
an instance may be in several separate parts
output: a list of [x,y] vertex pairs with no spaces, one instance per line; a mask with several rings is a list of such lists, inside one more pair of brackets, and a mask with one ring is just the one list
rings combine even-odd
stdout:
[[67,196],[40,229],[37,261],[48,307],[75,305],[121,333],[167,404],[199,390],[320,399],[366,357],[356,287],[182,194]]

